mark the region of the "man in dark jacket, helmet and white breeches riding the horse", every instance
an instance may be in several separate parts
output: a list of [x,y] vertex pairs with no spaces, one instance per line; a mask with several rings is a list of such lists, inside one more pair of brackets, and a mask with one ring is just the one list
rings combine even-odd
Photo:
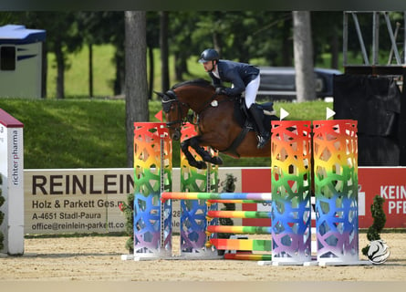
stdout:
[[[200,59],[203,68],[209,73],[216,87],[217,94],[236,96],[245,91],[245,106],[253,117],[257,132],[257,148],[264,148],[270,139],[269,129],[264,128],[263,112],[255,104],[256,93],[259,88],[259,69],[245,63],[220,59],[219,54],[213,48],[203,50]],[[232,88],[224,89],[222,82],[231,82]]]

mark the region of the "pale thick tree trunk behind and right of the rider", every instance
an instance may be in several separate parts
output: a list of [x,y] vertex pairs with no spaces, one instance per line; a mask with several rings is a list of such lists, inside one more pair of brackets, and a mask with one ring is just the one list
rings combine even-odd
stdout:
[[297,101],[316,99],[310,13],[308,11],[293,12],[293,45]]

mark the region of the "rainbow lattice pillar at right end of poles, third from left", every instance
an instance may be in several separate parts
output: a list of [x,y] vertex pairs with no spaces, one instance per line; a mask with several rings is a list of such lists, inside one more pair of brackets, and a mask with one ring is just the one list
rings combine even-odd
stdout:
[[272,121],[272,262],[311,261],[311,123]]

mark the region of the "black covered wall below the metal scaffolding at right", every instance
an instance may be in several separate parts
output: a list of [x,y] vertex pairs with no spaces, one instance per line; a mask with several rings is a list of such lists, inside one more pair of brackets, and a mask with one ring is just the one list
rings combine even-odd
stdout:
[[358,120],[359,166],[400,165],[401,91],[390,77],[336,75],[336,120]]

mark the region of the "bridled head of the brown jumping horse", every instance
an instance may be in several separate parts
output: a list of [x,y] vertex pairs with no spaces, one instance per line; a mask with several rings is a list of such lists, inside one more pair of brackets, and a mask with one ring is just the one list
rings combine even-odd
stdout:
[[172,140],[181,139],[181,128],[189,110],[186,103],[181,102],[173,90],[165,93],[155,92],[161,97],[162,110],[165,113],[166,127],[169,129],[169,135]]

